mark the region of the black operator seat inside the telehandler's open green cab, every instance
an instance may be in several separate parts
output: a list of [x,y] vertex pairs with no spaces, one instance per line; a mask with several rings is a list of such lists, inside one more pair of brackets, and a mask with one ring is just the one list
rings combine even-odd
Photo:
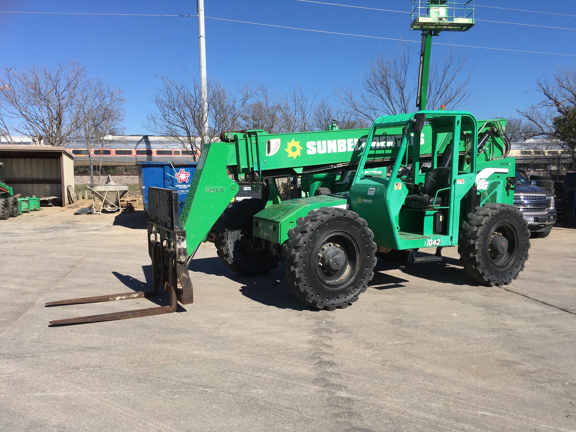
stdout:
[[404,201],[412,209],[427,209],[433,205],[441,206],[442,203],[448,204],[446,201],[449,199],[448,191],[442,191],[436,197],[434,202],[434,196],[436,192],[449,187],[450,185],[450,165],[452,164],[452,146],[453,143],[450,141],[449,145],[446,146],[444,151],[444,158],[442,158],[442,163],[437,168],[434,168],[428,173],[426,180],[424,181],[424,186],[419,194],[408,195]]

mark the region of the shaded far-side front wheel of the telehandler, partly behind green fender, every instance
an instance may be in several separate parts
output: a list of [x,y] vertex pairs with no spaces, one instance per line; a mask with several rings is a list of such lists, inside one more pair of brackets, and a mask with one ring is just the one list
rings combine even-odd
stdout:
[[263,275],[278,267],[270,243],[252,236],[252,217],[262,210],[259,199],[244,199],[224,210],[214,244],[224,265],[247,276]]

